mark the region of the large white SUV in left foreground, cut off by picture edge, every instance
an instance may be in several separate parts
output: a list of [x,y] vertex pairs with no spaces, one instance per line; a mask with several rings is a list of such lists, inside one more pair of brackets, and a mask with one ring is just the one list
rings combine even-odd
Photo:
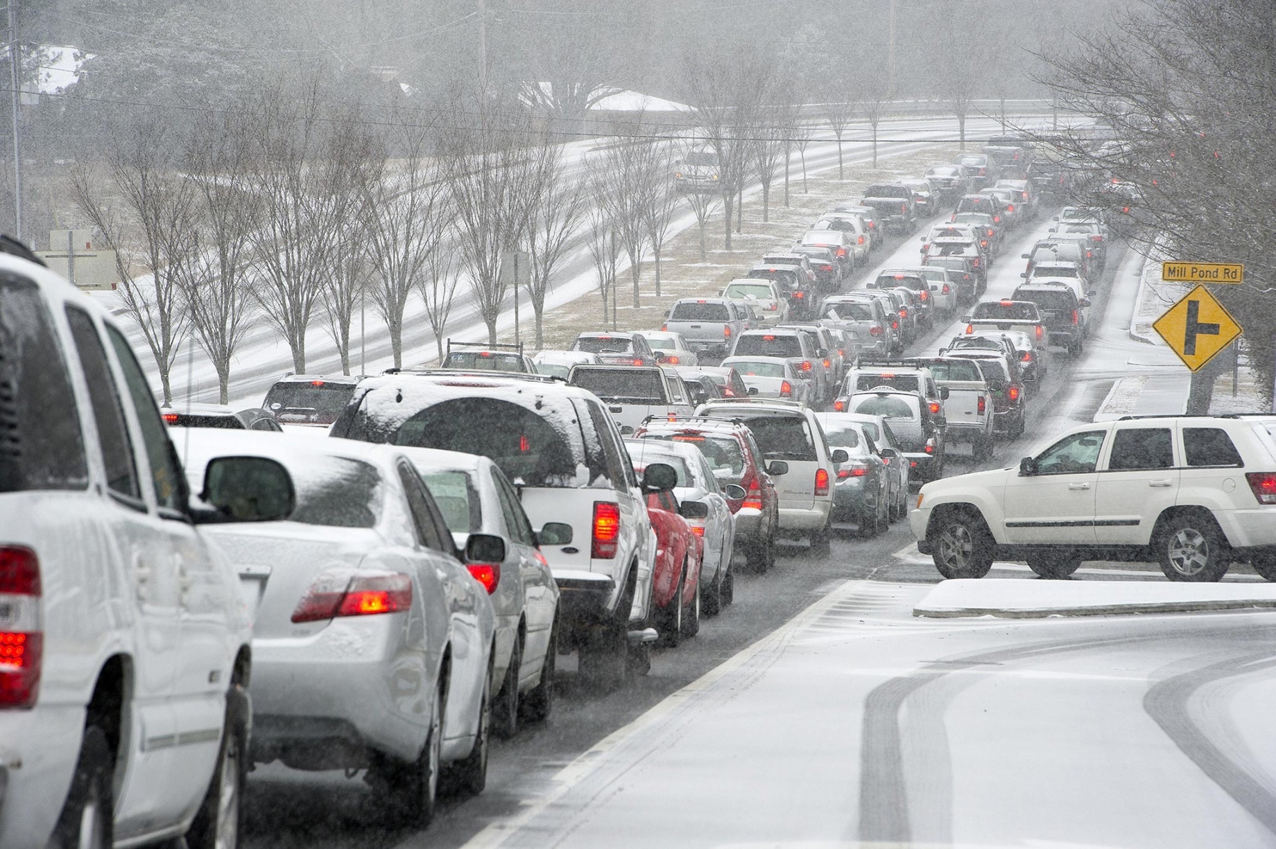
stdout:
[[0,846],[235,846],[250,622],[197,524],[277,519],[291,478],[223,458],[191,505],[124,330],[6,255],[0,433]]

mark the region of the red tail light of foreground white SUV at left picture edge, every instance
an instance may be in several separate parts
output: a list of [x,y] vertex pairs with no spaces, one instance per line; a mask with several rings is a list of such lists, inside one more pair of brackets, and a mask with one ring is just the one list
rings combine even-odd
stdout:
[[18,546],[0,547],[0,708],[33,708],[40,695],[43,625],[40,560]]

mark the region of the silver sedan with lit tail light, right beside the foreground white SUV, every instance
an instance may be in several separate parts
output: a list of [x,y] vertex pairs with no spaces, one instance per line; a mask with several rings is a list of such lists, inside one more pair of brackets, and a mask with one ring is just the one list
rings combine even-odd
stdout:
[[[253,613],[251,761],[370,765],[392,809],[419,825],[434,815],[440,765],[482,790],[495,617],[403,453],[195,428],[182,442],[194,486],[213,460],[242,456],[296,483],[287,520],[209,528]],[[466,556],[499,562],[504,542],[472,534]]]

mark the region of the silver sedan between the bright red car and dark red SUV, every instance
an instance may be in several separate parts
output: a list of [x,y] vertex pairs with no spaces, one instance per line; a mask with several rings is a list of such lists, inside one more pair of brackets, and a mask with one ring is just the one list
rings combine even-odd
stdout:
[[735,483],[720,484],[704,455],[688,442],[634,439],[627,440],[625,445],[634,463],[660,461],[678,473],[674,497],[678,498],[679,512],[692,526],[692,533],[703,541],[701,604],[707,616],[717,616],[735,598],[735,576],[731,572],[735,514],[727,498],[740,501],[745,491]]

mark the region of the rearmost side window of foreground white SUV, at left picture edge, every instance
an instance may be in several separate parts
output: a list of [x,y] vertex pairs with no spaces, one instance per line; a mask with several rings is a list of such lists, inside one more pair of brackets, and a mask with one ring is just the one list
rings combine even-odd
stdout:
[[34,283],[0,279],[0,492],[83,490],[70,374]]

